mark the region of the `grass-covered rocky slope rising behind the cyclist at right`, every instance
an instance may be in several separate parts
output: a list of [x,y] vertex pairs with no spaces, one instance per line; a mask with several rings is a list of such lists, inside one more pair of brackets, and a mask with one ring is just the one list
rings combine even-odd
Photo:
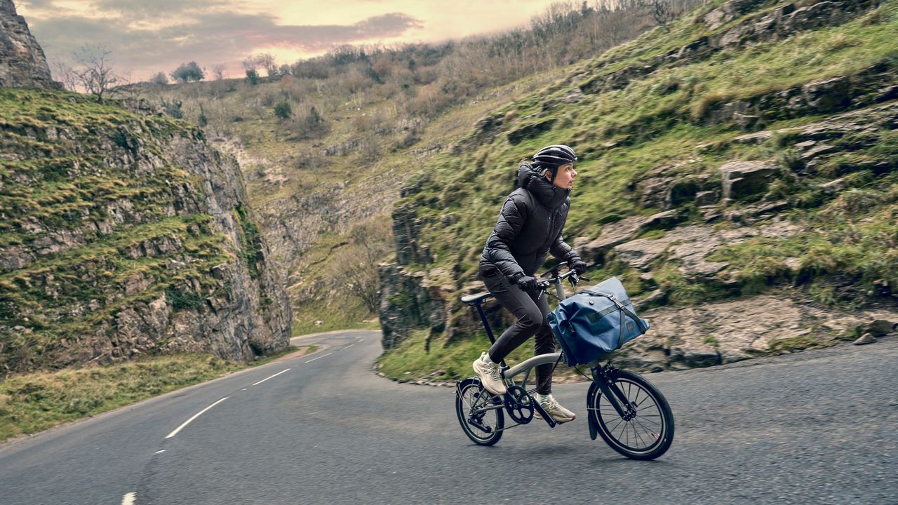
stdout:
[[394,208],[384,348],[428,328],[431,353],[485,338],[458,297],[483,289],[515,161],[558,142],[580,155],[568,243],[653,323],[629,366],[893,332],[896,29],[894,1],[711,1],[492,111]]

